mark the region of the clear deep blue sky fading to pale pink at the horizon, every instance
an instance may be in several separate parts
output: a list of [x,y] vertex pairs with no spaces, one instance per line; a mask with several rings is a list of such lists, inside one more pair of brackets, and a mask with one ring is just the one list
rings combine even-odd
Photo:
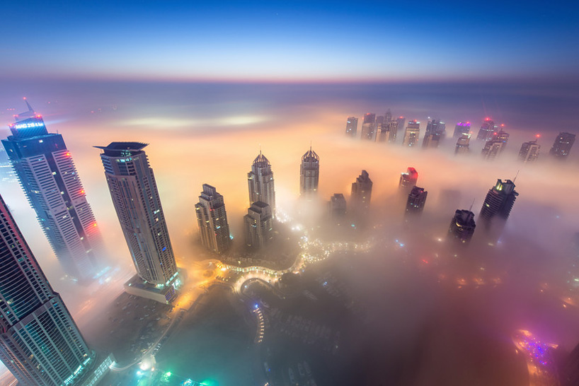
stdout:
[[447,81],[577,75],[579,14],[527,1],[10,1],[1,78]]

